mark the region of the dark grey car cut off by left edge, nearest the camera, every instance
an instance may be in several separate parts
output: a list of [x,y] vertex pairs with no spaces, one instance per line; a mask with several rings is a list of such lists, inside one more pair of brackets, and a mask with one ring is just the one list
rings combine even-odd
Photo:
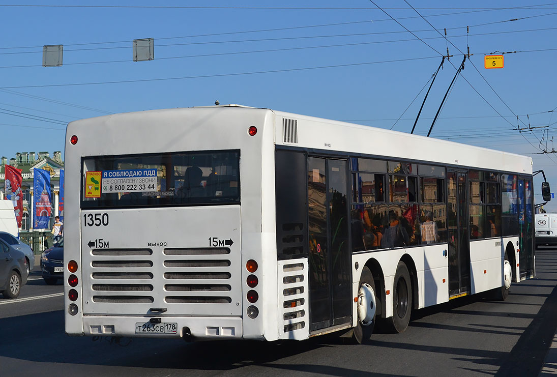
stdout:
[[27,258],[21,250],[0,239],[0,292],[6,298],[19,296],[27,282]]

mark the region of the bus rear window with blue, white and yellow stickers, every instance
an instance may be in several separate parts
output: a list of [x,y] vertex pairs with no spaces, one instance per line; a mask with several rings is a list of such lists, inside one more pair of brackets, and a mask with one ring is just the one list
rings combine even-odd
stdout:
[[83,158],[81,208],[240,203],[240,151]]

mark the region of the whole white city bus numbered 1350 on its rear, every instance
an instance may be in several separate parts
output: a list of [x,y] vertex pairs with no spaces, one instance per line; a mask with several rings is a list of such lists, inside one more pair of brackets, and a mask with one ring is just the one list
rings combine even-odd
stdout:
[[525,156],[237,105],[66,140],[71,335],[364,342],[535,273]]

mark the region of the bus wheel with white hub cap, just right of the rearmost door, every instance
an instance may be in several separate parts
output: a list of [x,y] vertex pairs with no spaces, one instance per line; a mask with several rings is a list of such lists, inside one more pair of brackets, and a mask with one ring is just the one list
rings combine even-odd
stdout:
[[372,336],[375,326],[376,297],[375,282],[368,267],[361,270],[360,289],[358,291],[358,324],[354,327],[354,339],[359,344],[365,344]]

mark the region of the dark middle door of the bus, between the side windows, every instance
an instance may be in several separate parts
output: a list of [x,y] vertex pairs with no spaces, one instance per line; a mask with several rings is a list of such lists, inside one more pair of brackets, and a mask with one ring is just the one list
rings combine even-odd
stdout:
[[470,231],[465,171],[449,170],[448,176],[448,274],[449,298],[470,292]]

